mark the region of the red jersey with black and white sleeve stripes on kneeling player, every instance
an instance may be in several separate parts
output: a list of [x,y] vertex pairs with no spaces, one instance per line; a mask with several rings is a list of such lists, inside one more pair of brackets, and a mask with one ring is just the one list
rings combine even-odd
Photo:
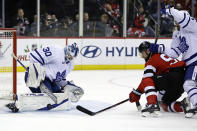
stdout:
[[144,74],[138,90],[145,93],[148,104],[156,102],[157,92],[152,79],[154,75],[169,72],[170,68],[185,66],[184,61],[169,58],[165,54],[153,54],[145,63]]

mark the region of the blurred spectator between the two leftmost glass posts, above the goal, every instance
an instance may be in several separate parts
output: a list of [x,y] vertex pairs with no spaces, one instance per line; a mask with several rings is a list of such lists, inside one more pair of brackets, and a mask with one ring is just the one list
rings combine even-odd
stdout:
[[24,17],[23,9],[19,8],[16,18],[17,35],[25,36],[30,31],[29,19]]

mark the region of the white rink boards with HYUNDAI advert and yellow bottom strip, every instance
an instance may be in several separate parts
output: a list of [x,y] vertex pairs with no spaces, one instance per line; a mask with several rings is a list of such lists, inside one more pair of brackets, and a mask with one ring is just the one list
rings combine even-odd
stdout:
[[[29,65],[29,52],[44,46],[55,44],[64,47],[76,42],[79,56],[75,60],[75,70],[103,69],[143,69],[144,60],[140,58],[138,46],[143,41],[152,39],[134,38],[18,38],[17,56],[24,65]],[[160,39],[158,43],[170,45],[171,39]],[[5,64],[6,67],[6,64]],[[24,69],[18,64],[18,72]]]

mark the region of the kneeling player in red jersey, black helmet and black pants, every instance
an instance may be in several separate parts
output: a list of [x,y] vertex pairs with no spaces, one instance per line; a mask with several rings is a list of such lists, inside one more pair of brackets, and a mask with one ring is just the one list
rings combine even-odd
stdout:
[[149,46],[150,43],[144,41],[138,48],[146,63],[141,83],[129,94],[130,102],[139,101],[145,93],[147,105],[142,110],[143,116],[151,113],[158,115],[159,104],[164,111],[183,112],[188,106],[186,99],[182,102],[176,100],[184,92],[184,61],[169,58],[165,54],[152,54]]

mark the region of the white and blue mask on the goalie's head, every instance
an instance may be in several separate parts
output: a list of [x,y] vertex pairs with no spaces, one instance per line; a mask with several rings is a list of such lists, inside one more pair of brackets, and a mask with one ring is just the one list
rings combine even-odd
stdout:
[[67,45],[64,48],[65,60],[67,62],[70,62],[75,57],[77,57],[78,53],[79,53],[79,48],[76,43],[73,43],[72,45]]

